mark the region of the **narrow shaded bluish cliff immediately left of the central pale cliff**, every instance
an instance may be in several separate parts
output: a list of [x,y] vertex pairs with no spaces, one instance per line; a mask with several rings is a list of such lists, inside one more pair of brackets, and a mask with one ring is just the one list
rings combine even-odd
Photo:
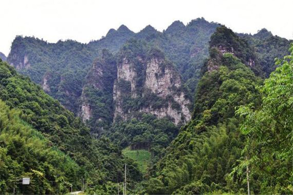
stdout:
[[113,85],[117,77],[116,61],[107,50],[89,70],[81,96],[79,115],[92,129],[101,133],[113,120]]

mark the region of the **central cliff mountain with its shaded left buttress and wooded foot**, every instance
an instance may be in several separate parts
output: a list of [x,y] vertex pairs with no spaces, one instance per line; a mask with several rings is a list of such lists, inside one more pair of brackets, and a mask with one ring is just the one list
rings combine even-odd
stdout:
[[[105,134],[122,148],[145,149],[154,163],[190,119],[190,99],[165,54],[131,39],[117,60],[103,50],[94,62],[83,88],[81,117],[92,135]],[[131,126],[136,131],[127,131]]]

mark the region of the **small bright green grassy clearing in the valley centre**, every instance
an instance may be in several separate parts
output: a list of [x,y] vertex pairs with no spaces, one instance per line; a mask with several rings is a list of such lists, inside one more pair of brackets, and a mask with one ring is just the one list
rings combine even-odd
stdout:
[[138,164],[139,170],[146,174],[147,166],[150,162],[150,152],[146,150],[130,150],[129,147],[125,148],[122,153],[124,156],[133,159]]

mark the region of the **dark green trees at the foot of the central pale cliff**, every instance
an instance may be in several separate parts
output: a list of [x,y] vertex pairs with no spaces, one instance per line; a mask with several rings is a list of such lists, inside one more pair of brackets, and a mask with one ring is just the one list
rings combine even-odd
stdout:
[[139,120],[114,123],[109,133],[110,139],[123,148],[132,150],[145,149],[152,154],[151,164],[157,162],[164,154],[164,149],[178,133],[168,118],[158,119],[151,114],[143,114]]

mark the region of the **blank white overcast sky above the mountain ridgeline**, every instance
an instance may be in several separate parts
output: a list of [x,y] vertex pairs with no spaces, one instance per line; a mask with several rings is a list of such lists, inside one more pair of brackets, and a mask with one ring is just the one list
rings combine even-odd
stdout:
[[267,28],[293,39],[292,9],[293,0],[0,0],[0,51],[7,56],[17,35],[86,43],[121,24],[134,32],[148,24],[162,31],[174,20],[199,17],[235,32]]

